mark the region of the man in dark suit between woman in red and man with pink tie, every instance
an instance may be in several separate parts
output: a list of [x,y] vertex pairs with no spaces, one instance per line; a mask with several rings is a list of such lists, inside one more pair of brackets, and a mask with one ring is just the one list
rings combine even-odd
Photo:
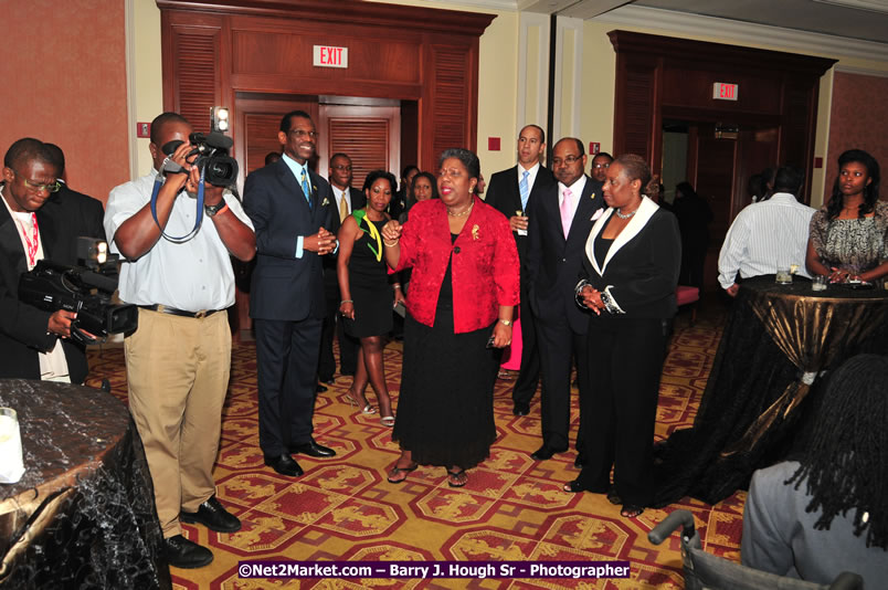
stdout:
[[540,381],[537,331],[529,298],[527,226],[533,202],[554,183],[552,172],[540,164],[545,152],[546,133],[537,125],[527,125],[518,134],[518,165],[491,176],[487,188],[486,202],[508,218],[521,261],[521,305],[518,314],[521,318],[521,370],[511,390],[515,415],[530,413],[530,400]]

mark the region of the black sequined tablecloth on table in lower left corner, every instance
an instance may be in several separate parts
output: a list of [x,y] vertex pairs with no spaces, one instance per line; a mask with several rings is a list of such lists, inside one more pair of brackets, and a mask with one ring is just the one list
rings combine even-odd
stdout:
[[25,472],[0,484],[0,588],[171,588],[141,440],[118,399],[0,380]]

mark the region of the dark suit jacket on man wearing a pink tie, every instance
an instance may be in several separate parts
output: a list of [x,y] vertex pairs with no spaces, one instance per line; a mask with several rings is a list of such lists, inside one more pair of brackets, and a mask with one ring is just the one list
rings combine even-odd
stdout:
[[573,289],[585,257],[583,246],[592,230],[592,217],[605,207],[601,188],[601,182],[585,177],[567,240],[561,229],[558,182],[539,196],[528,222],[528,291],[533,315],[542,322],[567,317],[578,334],[588,331],[589,315],[575,304]]

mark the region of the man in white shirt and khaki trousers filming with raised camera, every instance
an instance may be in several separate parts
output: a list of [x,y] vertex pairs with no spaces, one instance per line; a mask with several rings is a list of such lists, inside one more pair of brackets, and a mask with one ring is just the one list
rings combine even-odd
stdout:
[[129,409],[145,443],[167,557],[180,568],[213,559],[182,536],[180,519],[222,533],[241,528],[215,497],[212,467],[231,368],[229,256],[255,255],[250,219],[223,187],[204,183],[203,221],[195,224],[201,170],[191,133],[176,113],[155,118],[155,169],[112,190],[105,212],[112,250],[125,259],[120,298],[140,307],[139,327],[125,340]]

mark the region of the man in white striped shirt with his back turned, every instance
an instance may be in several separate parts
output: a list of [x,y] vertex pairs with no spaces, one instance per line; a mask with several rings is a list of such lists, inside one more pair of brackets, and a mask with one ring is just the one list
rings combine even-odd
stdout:
[[814,209],[795,199],[802,178],[795,168],[782,167],[774,178],[774,193],[750,204],[733,220],[718,256],[718,282],[731,297],[740,288],[738,272],[741,278],[749,278],[797,265],[799,274],[810,276],[805,251]]

